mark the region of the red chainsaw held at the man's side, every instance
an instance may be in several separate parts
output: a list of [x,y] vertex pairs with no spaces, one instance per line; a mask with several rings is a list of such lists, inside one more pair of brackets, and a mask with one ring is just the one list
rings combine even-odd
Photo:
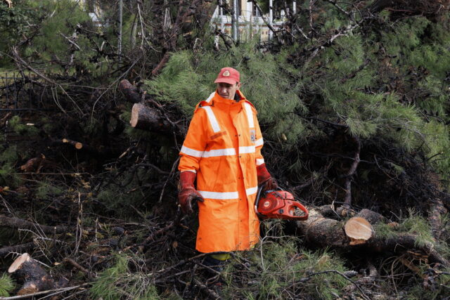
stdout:
[[[296,216],[296,210],[303,211]],[[308,219],[308,210],[300,202],[294,200],[293,194],[285,190],[266,190],[258,188],[255,200],[255,212],[261,219],[285,219],[304,221]]]

